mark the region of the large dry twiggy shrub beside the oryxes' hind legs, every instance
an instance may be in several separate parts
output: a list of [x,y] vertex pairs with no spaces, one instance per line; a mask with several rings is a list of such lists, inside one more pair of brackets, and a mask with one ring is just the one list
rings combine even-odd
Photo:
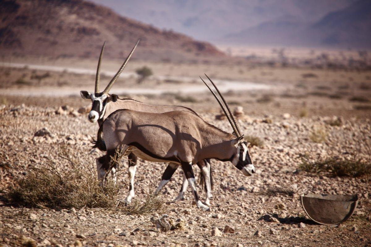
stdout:
[[60,147],[58,156],[68,161],[62,168],[52,161],[33,168],[26,177],[19,178],[5,194],[16,206],[62,208],[114,208],[118,205],[119,185],[112,180],[99,187],[96,170],[83,154],[81,162],[67,146]]

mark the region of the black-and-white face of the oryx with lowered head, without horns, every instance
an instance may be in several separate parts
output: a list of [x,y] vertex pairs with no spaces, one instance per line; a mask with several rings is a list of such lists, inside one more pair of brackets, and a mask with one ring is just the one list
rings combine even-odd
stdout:
[[232,145],[236,147],[236,152],[232,160],[233,165],[243,175],[252,176],[255,173],[255,167],[251,162],[249,151],[247,150],[247,142],[243,141],[243,136],[240,136],[232,141]]

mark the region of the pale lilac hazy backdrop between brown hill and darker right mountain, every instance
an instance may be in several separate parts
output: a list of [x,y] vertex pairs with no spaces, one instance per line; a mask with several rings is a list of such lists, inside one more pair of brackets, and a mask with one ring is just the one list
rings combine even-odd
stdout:
[[[207,41],[226,43],[227,34],[259,29],[283,18],[315,23],[331,11],[343,9],[355,0],[92,0],[157,27],[173,29]],[[294,24],[294,23],[292,23]],[[273,27],[272,26],[272,27]],[[288,26],[291,28],[291,24]],[[253,30],[253,29],[252,29]],[[286,33],[286,31],[285,31]],[[280,38],[281,39],[281,38]],[[238,40],[237,40],[238,41]],[[239,40],[239,43],[244,40]]]

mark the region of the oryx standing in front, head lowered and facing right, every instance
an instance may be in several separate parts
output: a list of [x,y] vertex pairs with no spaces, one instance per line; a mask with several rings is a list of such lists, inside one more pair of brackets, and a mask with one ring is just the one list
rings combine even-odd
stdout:
[[209,210],[209,207],[198,198],[193,164],[216,158],[231,161],[245,176],[255,173],[247,151],[247,142],[243,140],[239,125],[213,81],[211,83],[229,114],[213,90],[205,84],[219,102],[237,137],[205,122],[190,111],[148,113],[129,109],[116,110],[99,127],[103,131],[107,148],[107,154],[97,159],[102,163],[102,173],[111,166],[111,157],[116,150],[126,153],[128,147],[134,147],[132,152],[143,160],[170,162],[156,191],[160,191],[181,166],[192,188],[196,205],[203,210]]

